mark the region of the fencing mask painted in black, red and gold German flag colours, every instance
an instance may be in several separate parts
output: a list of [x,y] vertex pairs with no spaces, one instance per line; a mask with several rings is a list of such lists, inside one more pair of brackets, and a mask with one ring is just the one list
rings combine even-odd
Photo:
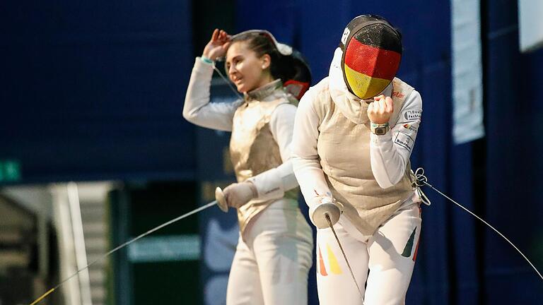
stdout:
[[402,35],[385,18],[362,15],[345,28],[339,47],[349,91],[366,100],[392,82],[402,59]]

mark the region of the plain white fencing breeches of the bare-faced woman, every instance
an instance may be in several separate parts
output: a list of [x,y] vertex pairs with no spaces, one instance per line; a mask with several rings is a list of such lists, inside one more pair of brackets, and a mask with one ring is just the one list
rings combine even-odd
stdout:
[[238,241],[226,304],[308,304],[312,254],[313,234],[300,210],[271,203]]

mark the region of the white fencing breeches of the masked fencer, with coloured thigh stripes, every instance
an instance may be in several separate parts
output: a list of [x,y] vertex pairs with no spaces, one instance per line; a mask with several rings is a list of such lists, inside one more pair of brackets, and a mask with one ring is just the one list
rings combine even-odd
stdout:
[[[358,232],[344,215],[334,229],[364,295],[364,303],[405,304],[421,233],[419,203],[408,199],[370,237]],[[320,304],[361,305],[361,296],[332,229],[317,231],[316,251]]]

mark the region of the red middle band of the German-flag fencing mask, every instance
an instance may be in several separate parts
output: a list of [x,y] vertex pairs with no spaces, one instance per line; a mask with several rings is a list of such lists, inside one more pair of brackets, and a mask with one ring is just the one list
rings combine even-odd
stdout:
[[397,52],[371,47],[351,39],[346,47],[345,64],[367,76],[392,80],[396,76],[401,58],[402,55]]

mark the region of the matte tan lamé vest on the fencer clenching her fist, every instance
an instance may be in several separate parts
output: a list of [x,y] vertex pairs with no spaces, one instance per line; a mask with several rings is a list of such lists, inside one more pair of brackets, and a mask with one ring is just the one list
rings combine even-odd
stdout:
[[[390,126],[394,126],[405,97],[413,88],[399,78],[392,83],[394,113]],[[332,196],[344,205],[346,217],[364,235],[372,235],[380,225],[413,193],[411,165],[395,186],[382,189],[371,170],[370,122],[355,124],[346,118],[323,90],[315,107],[321,118],[317,150],[320,165]],[[367,108],[366,108],[367,109]]]

